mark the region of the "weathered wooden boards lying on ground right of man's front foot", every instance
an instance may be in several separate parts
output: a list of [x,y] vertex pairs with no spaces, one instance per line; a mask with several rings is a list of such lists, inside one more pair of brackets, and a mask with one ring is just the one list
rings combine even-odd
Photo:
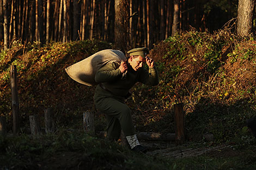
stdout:
[[177,147],[174,148],[168,148],[168,149],[161,149],[161,150],[154,150],[153,152],[148,152],[149,155],[159,155],[165,158],[172,157],[172,158],[187,158],[187,157],[194,157],[194,156],[200,156],[205,153],[212,152],[214,150],[219,150],[223,148],[227,148],[228,146],[226,144],[223,144],[221,146],[217,147],[210,147],[210,148],[189,148],[189,149],[177,149]]

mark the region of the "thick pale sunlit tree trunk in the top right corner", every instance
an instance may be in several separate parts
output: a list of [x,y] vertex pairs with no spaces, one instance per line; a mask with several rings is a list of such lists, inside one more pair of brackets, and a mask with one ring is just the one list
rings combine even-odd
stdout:
[[252,33],[254,0],[239,0],[237,9],[237,35],[248,36]]

